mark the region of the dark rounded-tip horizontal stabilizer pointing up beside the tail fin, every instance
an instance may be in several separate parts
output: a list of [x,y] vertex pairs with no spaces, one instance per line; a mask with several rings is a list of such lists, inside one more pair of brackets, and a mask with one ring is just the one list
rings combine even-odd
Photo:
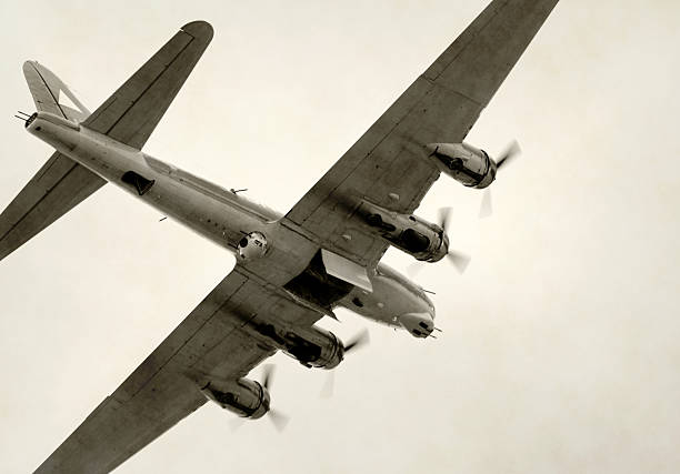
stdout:
[[212,40],[204,21],[186,24],[83,125],[141,149]]

